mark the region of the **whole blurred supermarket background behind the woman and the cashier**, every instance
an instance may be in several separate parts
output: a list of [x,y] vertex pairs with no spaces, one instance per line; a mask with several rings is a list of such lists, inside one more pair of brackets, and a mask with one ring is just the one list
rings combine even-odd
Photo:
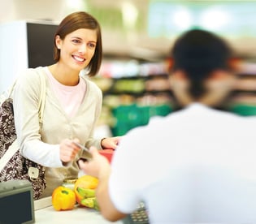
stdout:
[[256,1],[228,0],[0,0],[0,92],[18,71],[52,63],[56,25],[73,11],[88,11],[102,26],[102,68],[92,79],[103,93],[98,130],[123,135],[177,110],[164,60],[189,28],[216,32],[243,60],[221,109],[256,115],[255,8]]

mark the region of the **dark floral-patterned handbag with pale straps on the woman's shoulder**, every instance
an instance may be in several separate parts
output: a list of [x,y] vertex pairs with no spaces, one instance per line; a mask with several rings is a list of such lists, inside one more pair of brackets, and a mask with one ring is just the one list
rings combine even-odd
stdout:
[[[40,123],[43,117],[46,97],[46,80],[37,68],[41,78],[41,96],[38,108]],[[23,157],[17,144],[15,131],[13,101],[11,93],[2,93],[0,98],[0,182],[16,179],[28,179],[33,187],[33,199],[37,200],[46,188],[46,169],[44,166]]]

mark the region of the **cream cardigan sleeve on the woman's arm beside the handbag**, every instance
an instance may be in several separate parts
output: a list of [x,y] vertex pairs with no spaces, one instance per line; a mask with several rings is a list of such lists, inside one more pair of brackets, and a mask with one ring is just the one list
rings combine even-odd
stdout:
[[13,93],[15,129],[20,152],[24,157],[42,166],[63,166],[59,157],[59,144],[41,141],[38,118],[41,80],[37,69],[29,68],[20,73]]

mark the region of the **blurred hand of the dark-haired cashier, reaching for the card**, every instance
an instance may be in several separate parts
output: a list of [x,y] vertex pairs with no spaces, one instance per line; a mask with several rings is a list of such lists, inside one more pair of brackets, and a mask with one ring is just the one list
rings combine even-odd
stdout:
[[83,170],[85,174],[92,175],[96,178],[108,176],[111,170],[110,162],[108,162],[106,157],[98,153],[98,149],[93,146],[89,149],[89,152],[92,153],[93,159],[85,162],[80,160],[78,162],[80,169]]

